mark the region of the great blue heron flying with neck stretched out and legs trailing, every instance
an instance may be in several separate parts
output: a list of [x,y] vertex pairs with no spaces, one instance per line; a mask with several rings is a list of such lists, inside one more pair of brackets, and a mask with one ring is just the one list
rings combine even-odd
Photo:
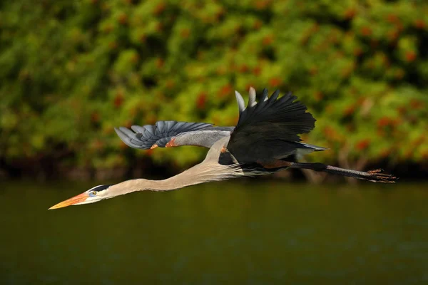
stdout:
[[315,128],[315,118],[306,106],[295,101],[291,93],[278,98],[276,90],[270,97],[263,90],[260,102],[250,88],[248,105],[235,92],[239,120],[235,127],[214,127],[208,123],[159,121],[156,125],[116,129],[127,145],[148,149],[179,145],[210,147],[203,162],[165,180],[134,179],[115,185],[99,185],[81,195],[63,201],[50,209],[76,204],[88,204],[130,192],[170,191],[203,182],[228,180],[234,177],[266,175],[287,168],[301,168],[355,177],[371,182],[392,183],[396,177],[382,170],[367,172],[347,170],[322,163],[302,163],[287,160],[313,151],[325,150],[301,142],[299,135]]

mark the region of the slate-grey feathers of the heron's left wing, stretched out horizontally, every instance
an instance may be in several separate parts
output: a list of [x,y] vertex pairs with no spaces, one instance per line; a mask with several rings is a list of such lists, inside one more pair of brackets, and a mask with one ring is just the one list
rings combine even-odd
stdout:
[[142,127],[133,125],[131,130],[124,127],[115,128],[114,130],[126,145],[146,150],[155,144],[158,147],[165,147],[171,138],[180,133],[208,130],[210,128],[214,128],[213,124],[161,120],[156,122],[155,125],[144,125]]

